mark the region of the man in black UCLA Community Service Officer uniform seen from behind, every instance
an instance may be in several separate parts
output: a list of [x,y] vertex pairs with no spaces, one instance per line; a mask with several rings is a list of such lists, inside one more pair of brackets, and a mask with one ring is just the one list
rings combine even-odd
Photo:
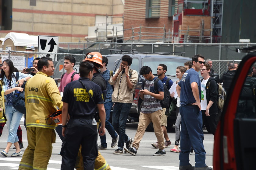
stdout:
[[[105,134],[103,95],[101,88],[90,81],[93,77],[92,70],[93,64],[82,62],[79,67],[79,80],[68,83],[63,92],[62,135],[64,141],[61,149],[62,170],[73,170],[75,168],[80,144],[82,145],[84,169],[94,169],[94,161],[98,156],[97,125],[92,124],[96,105],[101,120],[99,134]],[[87,89],[80,81],[84,83]],[[67,123],[68,114],[70,119]]]

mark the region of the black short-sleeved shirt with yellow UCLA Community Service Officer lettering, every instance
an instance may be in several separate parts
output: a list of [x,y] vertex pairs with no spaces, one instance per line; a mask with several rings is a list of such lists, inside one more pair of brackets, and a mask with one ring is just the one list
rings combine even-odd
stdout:
[[[82,80],[87,87],[95,103],[79,80]],[[91,82],[89,78],[80,77],[79,80],[70,82],[66,85],[63,92],[62,102],[69,104],[68,112],[70,116],[93,115],[96,104],[104,103],[101,88],[94,82]]]

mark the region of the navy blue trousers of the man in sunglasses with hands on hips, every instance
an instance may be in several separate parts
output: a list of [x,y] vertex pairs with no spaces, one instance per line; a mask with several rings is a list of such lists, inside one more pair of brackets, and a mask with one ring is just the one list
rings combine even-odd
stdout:
[[195,167],[205,167],[205,150],[202,113],[199,107],[180,106],[180,166],[189,165],[189,152],[191,144],[195,152]]

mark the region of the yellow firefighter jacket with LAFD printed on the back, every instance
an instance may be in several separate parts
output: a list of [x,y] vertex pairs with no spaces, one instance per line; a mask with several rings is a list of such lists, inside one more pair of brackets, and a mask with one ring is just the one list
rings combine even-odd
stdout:
[[26,124],[27,127],[44,127],[55,129],[55,123],[46,118],[56,112],[57,108],[62,109],[59,89],[53,80],[47,74],[39,71],[34,77],[27,81],[25,86],[25,106],[26,106]]

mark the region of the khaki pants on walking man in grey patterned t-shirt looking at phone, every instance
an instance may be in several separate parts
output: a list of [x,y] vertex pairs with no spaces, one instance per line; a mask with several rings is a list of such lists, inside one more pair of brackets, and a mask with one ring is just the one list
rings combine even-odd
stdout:
[[140,112],[140,118],[139,118],[139,124],[138,128],[133,140],[133,147],[136,149],[140,146],[140,141],[145,133],[146,128],[148,127],[149,123],[153,123],[155,136],[158,141],[158,147],[159,149],[164,149],[164,133],[161,126],[161,116],[162,116],[162,110],[158,110],[154,113],[141,113]]

